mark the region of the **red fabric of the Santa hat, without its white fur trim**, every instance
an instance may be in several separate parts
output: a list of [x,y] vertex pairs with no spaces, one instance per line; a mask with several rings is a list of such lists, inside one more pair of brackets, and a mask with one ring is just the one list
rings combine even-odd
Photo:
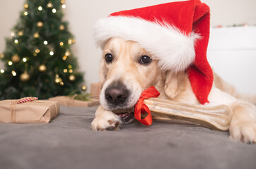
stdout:
[[[209,6],[200,0],[178,1],[129,11],[120,11],[110,16],[127,16],[174,25],[180,32],[190,35],[192,31],[199,33],[200,39],[195,43],[194,63],[187,69],[194,95],[201,104],[208,103],[214,76],[206,58],[209,42]],[[131,25],[132,26],[132,25]],[[150,39],[149,39],[150,40]],[[163,44],[164,45],[164,44]]]

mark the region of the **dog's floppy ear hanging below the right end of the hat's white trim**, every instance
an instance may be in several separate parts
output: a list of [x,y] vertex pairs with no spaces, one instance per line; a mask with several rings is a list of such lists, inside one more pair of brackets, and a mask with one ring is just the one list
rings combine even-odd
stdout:
[[166,72],[164,90],[165,95],[171,99],[177,96],[179,90],[179,75],[177,73],[172,73],[170,70]]

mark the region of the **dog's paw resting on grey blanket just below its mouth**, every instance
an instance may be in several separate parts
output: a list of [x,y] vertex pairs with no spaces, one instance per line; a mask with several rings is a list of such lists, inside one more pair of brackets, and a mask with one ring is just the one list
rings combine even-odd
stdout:
[[96,117],[91,123],[91,127],[95,131],[119,130],[121,123],[120,118],[112,113]]

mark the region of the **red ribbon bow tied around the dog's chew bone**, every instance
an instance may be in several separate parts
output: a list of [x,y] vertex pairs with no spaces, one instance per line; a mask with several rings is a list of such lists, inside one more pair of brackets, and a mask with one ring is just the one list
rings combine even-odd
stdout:
[[[141,96],[139,97],[139,101],[135,105],[134,109],[134,117],[136,120],[138,120],[140,123],[144,125],[151,125],[152,124],[152,116],[151,112],[149,111],[149,107],[144,104],[144,99],[149,99],[151,97],[158,97],[160,93],[155,87],[149,87],[149,89],[146,89],[144,92],[142,92]],[[146,118],[141,119],[141,113],[148,113],[146,115]]]

